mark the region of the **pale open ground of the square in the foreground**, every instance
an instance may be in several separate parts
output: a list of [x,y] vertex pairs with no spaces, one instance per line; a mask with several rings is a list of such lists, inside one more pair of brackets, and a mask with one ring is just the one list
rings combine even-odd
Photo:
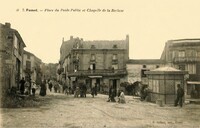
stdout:
[[[43,98],[43,97],[40,97]],[[200,105],[183,108],[141,102],[126,96],[126,104],[106,102],[107,96],[74,98],[50,93],[39,108],[1,109],[3,128],[199,128]]]

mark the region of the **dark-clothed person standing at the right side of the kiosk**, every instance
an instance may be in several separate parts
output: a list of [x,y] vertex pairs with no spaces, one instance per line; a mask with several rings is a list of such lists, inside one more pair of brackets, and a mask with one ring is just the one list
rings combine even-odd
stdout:
[[177,87],[178,87],[178,89],[177,89],[177,97],[176,97],[174,106],[180,105],[180,107],[182,107],[183,106],[184,90],[183,90],[183,88],[181,88],[180,84],[178,84]]

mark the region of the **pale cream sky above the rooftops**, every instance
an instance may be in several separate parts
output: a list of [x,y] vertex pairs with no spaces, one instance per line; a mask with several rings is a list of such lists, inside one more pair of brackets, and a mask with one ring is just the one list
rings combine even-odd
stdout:
[[25,50],[44,63],[58,63],[62,40],[70,36],[129,35],[130,59],[159,59],[168,40],[200,38],[199,5],[199,0],[1,0],[0,23],[11,23]]

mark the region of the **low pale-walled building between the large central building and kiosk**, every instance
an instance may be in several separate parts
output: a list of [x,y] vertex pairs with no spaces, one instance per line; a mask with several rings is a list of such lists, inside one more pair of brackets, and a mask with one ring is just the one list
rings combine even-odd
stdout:
[[127,82],[141,82],[141,84],[147,85],[148,78],[144,72],[163,66],[164,61],[160,59],[130,59],[126,64],[128,71]]

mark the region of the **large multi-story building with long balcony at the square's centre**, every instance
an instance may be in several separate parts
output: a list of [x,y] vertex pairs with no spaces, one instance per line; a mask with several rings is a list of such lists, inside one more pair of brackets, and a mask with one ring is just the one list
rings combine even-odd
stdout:
[[89,87],[96,84],[99,90],[101,85],[117,89],[125,81],[128,59],[128,35],[114,41],[83,41],[71,36],[61,45],[58,74],[70,85],[84,82]]

